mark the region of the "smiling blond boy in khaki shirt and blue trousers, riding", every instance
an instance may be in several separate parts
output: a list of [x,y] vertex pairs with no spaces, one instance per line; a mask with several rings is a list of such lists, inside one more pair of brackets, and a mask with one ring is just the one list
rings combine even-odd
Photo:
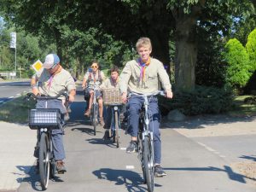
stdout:
[[[163,64],[150,57],[152,45],[149,38],[139,38],[136,44],[137,60],[128,61],[120,74],[119,87],[123,101],[127,100],[127,91],[137,94],[150,94],[161,90],[160,85],[166,91],[166,97],[172,98],[172,85]],[[137,149],[137,133],[139,111],[143,106],[143,97],[131,96],[128,101],[129,118],[128,132],[131,135],[131,143],[126,148],[127,153],[133,153]],[[157,98],[150,97],[148,112],[153,120],[149,123],[149,129],[154,131],[154,175],[166,176],[166,172],[160,166],[161,163],[161,139],[160,139],[160,112]]]

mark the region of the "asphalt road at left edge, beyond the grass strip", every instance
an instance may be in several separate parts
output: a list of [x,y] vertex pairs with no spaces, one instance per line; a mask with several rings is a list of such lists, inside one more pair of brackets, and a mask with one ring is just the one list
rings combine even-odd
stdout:
[[28,90],[30,90],[29,81],[0,82],[0,105]]

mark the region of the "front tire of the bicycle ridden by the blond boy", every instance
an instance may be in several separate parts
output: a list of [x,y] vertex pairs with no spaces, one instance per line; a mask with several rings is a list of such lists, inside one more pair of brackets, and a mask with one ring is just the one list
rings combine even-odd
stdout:
[[154,156],[153,144],[149,136],[145,136],[143,140],[143,175],[148,186],[148,191],[154,191]]

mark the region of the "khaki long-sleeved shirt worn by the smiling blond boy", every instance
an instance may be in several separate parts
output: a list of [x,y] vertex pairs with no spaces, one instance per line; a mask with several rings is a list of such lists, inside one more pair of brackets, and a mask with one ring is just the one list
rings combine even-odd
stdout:
[[151,58],[150,64],[145,68],[145,82],[140,79],[141,66],[135,60],[128,61],[120,75],[120,90],[122,93],[136,92],[151,94],[157,90],[172,90],[172,85],[166,69],[157,59]]

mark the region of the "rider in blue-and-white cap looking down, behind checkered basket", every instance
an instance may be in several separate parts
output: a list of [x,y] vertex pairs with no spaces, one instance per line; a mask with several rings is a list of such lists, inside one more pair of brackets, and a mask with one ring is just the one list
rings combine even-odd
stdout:
[[[63,67],[61,67],[60,58],[58,55],[46,55],[44,69],[38,76],[32,77],[32,93],[36,96],[57,96],[60,93],[67,92],[69,102],[74,101],[76,95],[76,85],[73,77]],[[61,113],[67,113],[67,109],[62,102],[64,98],[53,102],[48,102],[48,108],[60,108]],[[45,101],[37,102],[36,108],[45,108]],[[67,172],[64,166],[65,150],[63,145],[63,130],[52,130],[52,138],[54,143],[54,155],[56,160],[57,172]]]

